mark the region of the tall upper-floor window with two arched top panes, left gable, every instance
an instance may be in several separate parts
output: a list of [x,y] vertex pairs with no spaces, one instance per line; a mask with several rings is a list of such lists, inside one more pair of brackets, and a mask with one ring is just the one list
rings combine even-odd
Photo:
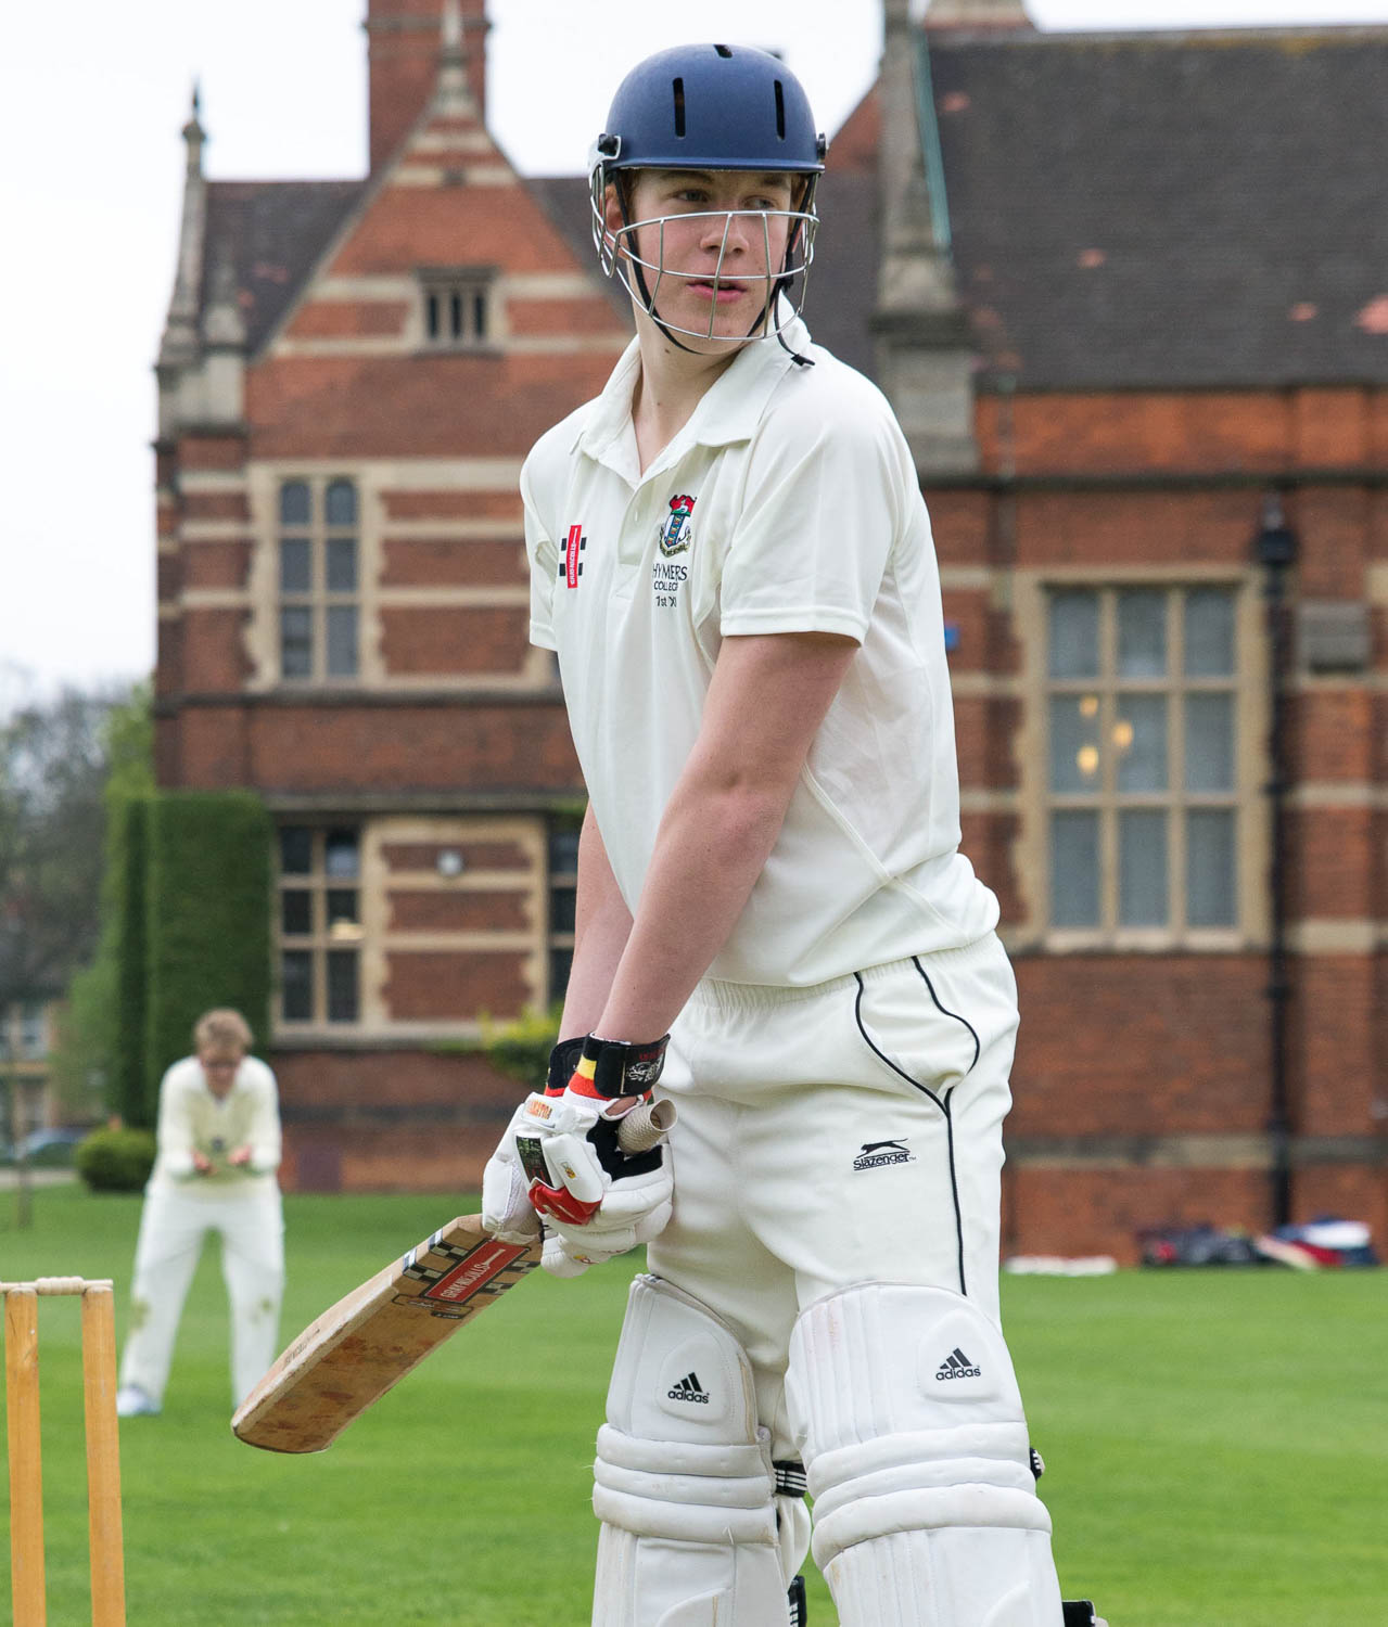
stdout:
[[280,677],[332,682],[358,670],[356,486],[286,480],[280,486]]

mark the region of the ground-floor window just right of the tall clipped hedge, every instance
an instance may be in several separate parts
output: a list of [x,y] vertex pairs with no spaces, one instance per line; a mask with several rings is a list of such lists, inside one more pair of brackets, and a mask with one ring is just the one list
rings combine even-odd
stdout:
[[355,1023],[361,996],[361,836],[280,827],[280,1020]]

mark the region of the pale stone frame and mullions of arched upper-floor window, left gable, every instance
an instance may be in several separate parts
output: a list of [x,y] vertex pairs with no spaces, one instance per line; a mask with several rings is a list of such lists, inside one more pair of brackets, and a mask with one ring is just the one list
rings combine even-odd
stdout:
[[[309,517],[308,521],[286,521],[283,517],[285,491],[290,486],[308,486]],[[329,519],[329,493],[335,486],[348,486],[353,499],[351,521]],[[288,542],[306,540],[309,547],[309,586],[308,589],[290,589],[283,586],[285,545]],[[329,561],[332,545],[353,542],[353,586],[351,589],[335,589],[329,582]],[[363,667],[368,605],[364,602],[363,582],[366,579],[366,548],[363,542],[363,490],[361,482],[348,470],[327,472],[282,472],[275,480],[273,509],[273,661],[278,683],[293,688],[343,688],[363,683],[366,677]],[[355,648],[351,672],[329,672],[329,618],[334,610],[350,608],[355,617]],[[308,610],[311,622],[311,670],[303,674],[285,672],[285,623],[286,610]]]

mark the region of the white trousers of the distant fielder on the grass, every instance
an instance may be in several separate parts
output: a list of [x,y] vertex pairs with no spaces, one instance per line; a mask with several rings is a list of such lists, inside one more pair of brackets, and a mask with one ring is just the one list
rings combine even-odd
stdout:
[[135,1245],[120,1383],[143,1389],[155,1402],[164,1398],[184,1300],[210,1232],[221,1237],[221,1276],[231,1306],[233,1407],[278,1354],[285,1220],[273,1178],[228,1191],[150,1186]]

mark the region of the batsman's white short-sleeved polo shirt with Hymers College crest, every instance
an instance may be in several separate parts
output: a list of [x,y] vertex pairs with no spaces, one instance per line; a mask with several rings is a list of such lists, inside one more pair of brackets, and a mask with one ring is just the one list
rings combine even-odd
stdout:
[[747,345],[641,473],[636,340],[521,473],[530,638],[558,652],[574,747],[636,909],[729,635],[861,649],[711,978],[805,986],[970,944],[997,901],[958,853],[939,569],[882,392],[810,343]]

